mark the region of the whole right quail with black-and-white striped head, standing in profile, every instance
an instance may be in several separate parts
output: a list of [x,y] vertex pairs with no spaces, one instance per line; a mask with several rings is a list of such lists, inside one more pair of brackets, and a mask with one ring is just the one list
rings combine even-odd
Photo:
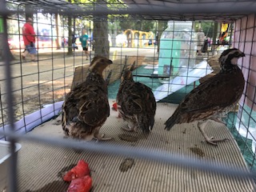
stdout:
[[170,130],[175,124],[198,121],[198,128],[206,142],[217,145],[224,139],[209,138],[201,127],[202,122],[212,119],[221,122],[215,115],[228,112],[242,96],[245,79],[238,67],[238,58],[245,54],[238,49],[224,50],[219,58],[221,70],[186,95],[174,114],[165,122]]

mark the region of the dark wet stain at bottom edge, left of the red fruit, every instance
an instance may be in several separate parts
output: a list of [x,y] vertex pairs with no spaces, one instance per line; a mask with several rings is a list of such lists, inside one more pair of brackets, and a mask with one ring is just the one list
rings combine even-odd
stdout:
[[54,181],[54,182],[47,183],[41,189],[26,190],[26,192],[66,191],[68,187],[69,187],[69,182]]

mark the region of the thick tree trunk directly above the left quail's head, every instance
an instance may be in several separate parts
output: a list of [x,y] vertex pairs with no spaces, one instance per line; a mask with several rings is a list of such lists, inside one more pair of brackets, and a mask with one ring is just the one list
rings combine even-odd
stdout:
[[[97,5],[101,5],[106,1],[97,0],[95,10],[97,10]],[[107,15],[102,15],[100,18],[94,18],[94,55],[102,55],[106,58],[110,58],[110,42],[108,40],[108,25],[107,25]]]

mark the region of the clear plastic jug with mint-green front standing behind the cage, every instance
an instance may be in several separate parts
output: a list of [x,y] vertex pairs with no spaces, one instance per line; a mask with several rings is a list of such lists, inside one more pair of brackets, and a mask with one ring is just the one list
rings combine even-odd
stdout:
[[168,22],[168,28],[160,38],[158,75],[177,76],[193,68],[196,53],[197,37],[193,23]]

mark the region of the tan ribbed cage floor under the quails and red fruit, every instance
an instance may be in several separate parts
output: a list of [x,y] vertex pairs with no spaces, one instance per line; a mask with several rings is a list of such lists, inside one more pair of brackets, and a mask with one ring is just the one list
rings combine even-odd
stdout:
[[[110,101],[112,106],[112,101]],[[209,122],[206,132],[215,138],[230,138],[218,146],[202,142],[202,135],[195,124],[176,125],[172,130],[164,130],[164,122],[174,112],[176,105],[158,103],[154,130],[146,138],[142,134],[131,134],[121,130],[126,126],[118,113],[111,110],[101,132],[114,138],[108,141],[124,147],[146,147],[154,150],[165,150],[166,154],[181,153],[189,157],[230,166],[241,166],[246,169],[238,146],[226,126]],[[38,126],[28,134],[45,137],[62,138],[60,118]],[[134,135],[134,141],[123,140],[126,135]],[[127,138],[127,137],[126,137]],[[68,183],[62,181],[62,174],[74,166],[79,159],[85,159],[91,169],[93,178],[92,191],[253,191],[254,184],[241,178],[227,178],[200,170],[185,169],[180,166],[148,162],[141,159],[130,159],[131,168],[126,170],[122,162],[127,157],[78,152],[65,148],[41,145],[34,142],[20,142],[22,149],[18,152],[19,191],[66,191]]]

